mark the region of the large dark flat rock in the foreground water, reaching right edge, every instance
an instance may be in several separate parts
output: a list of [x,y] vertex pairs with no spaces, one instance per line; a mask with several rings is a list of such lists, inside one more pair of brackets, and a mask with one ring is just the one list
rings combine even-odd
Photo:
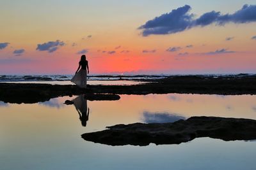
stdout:
[[86,141],[106,145],[180,144],[209,137],[224,141],[256,139],[256,120],[244,118],[191,117],[165,124],[114,125],[105,131],[82,135]]

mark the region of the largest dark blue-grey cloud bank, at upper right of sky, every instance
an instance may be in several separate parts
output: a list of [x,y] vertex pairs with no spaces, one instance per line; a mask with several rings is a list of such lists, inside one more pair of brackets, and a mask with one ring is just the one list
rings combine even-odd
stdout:
[[229,22],[236,24],[256,22],[256,5],[245,4],[241,10],[225,15],[222,15],[219,11],[210,11],[196,19],[194,19],[194,14],[189,14],[190,10],[191,7],[189,5],[182,6],[170,11],[170,13],[148,20],[138,29],[142,30],[143,36],[149,36],[150,34],[174,34],[193,27],[205,27],[211,24],[225,25]]

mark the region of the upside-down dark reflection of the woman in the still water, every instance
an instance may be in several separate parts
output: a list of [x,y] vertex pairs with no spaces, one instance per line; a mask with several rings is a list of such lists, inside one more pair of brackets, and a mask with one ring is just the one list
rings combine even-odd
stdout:
[[72,101],[74,102],[76,110],[79,114],[79,119],[81,120],[81,124],[83,126],[86,126],[86,122],[89,120],[89,111],[90,111],[89,108],[87,111],[87,100],[84,99],[84,95],[82,94],[76,97],[76,99]]

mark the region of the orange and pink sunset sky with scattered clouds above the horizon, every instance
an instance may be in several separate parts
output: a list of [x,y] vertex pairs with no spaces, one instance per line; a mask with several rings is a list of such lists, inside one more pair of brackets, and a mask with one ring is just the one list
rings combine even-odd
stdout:
[[256,73],[255,0],[0,4],[0,74]]

